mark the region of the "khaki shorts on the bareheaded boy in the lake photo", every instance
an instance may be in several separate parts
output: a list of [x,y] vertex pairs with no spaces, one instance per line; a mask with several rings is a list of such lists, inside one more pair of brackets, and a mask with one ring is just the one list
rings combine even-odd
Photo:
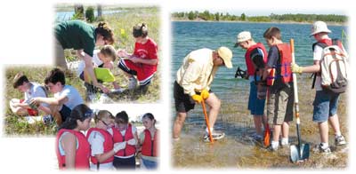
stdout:
[[280,125],[293,121],[293,86],[281,88],[270,93],[267,99],[267,116],[273,118],[273,124]]

